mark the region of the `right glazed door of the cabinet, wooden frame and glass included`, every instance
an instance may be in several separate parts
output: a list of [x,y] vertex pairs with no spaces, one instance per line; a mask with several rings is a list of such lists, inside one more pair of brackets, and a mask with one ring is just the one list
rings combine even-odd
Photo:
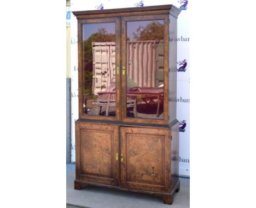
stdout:
[[168,15],[122,17],[122,120],[168,124]]

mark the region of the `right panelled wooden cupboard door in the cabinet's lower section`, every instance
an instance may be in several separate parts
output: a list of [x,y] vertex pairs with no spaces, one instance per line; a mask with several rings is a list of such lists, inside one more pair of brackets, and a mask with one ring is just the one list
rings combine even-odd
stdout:
[[171,130],[120,127],[121,186],[171,191]]

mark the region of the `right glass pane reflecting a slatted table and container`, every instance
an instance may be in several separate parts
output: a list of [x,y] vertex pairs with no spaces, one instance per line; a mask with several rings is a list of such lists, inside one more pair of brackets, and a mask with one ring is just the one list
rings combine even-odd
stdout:
[[164,119],[164,20],[127,22],[127,117]]

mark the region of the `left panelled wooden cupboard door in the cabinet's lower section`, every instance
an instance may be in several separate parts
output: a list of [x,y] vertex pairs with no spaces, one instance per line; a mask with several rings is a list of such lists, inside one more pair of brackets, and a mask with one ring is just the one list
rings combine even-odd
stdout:
[[76,179],[119,185],[119,127],[75,123]]

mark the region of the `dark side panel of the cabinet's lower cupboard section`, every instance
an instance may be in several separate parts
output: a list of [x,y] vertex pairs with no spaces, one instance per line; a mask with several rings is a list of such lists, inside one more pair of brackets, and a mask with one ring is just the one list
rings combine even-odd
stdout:
[[179,122],[171,127],[171,177],[172,188],[176,185],[179,175]]

